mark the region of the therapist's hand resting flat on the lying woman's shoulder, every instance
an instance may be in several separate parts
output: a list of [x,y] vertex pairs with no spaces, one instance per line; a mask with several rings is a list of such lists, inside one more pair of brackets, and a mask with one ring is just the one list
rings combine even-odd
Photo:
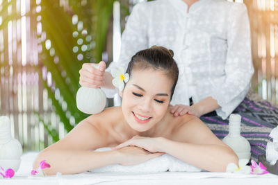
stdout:
[[196,117],[202,116],[202,109],[197,104],[188,106],[188,105],[170,105],[171,113],[174,114],[174,116],[183,116],[184,114],[190,114]]

